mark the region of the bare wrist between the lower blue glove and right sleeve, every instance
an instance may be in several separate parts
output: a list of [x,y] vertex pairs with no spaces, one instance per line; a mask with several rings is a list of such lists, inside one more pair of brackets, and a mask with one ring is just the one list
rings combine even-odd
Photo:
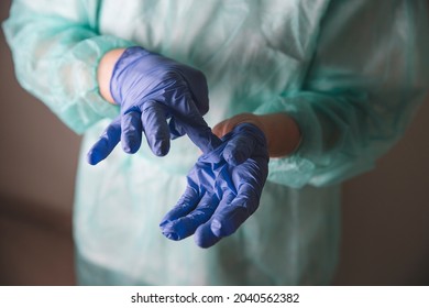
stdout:
[[221,138],[243,122],[253,123],[264,132],[270,157],[288,156],[299,145],[301,139],[299,128],[295,120],[284,112],[263,116],[241,113],[217,124],[213,133]]

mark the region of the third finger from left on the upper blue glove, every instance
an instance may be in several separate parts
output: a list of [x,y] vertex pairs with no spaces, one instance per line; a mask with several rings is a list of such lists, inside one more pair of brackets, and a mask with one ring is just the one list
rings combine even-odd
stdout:
[[142,110],[142,123],[147,144],[156,156],[164,156],[169,151],[169,129],[164,106],[147,101]]

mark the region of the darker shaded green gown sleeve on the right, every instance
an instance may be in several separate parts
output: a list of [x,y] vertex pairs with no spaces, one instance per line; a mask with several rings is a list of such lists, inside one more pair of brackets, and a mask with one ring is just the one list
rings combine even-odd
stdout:
[[428,18],[426,1],[331,2],[302,87],[256,112],[288,112],[302,133],[268,180],[324,186],[374,166],[428,95]]

